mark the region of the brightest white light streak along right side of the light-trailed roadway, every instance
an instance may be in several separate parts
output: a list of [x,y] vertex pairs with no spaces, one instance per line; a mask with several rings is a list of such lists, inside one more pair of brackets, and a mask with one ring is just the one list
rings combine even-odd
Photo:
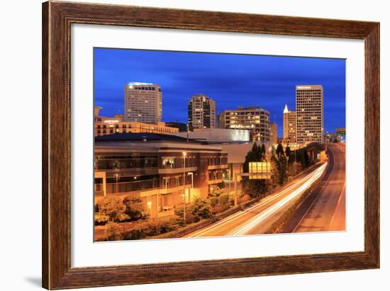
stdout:
[[261,212],[259,215],[256,215],[255,217],[250,219],[245,224],[240,225],[240,227],[236,227],[235,229],[233,229],[232,232],[228,233],[227,235],[228,236],[238,236],[238,235],[244,235],[244,234],[247,234],[248,232],[250,232],[251,229],[258,226],[258,224],[260,224],[260,222],[262,222],[264,219],[266,219],[267,217],[272,215],[274,212],[276,212],[280,208],[284,207],[284,205],[286,205],[288,202],[290,202],[291,200],[296,198],[298,195],[303,193],[303,191],[308,189],[312,183],[314,183],[318,178],[321,177],[323,171],[325,171],[325,166],[326,166],[326,163],[323,164],[322,166],[320,166],[318,169],[316,169],[316,171],[313,172],[313,175],[311,176],[311,178],[309,178],[305,183],[303,183],[302,186],[300,186],[298,189],[291,192],[290,195],[286,196],[285,198],[283,198],[282,200],[280,200],[276,204],[268,207],[266,210]]

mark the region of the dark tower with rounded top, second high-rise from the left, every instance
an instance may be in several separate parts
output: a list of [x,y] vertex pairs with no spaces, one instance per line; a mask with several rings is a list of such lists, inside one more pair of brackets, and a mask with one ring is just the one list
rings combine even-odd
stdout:
[[216,101],[203,94],[192,96],[188,103],[188,127],[190,131],[196,128],[215,128]]

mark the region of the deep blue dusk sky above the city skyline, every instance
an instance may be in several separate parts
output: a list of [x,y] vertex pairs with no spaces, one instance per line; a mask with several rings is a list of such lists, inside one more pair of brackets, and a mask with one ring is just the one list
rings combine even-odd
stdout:
[[194,94],[216,101],[217,114],[260,105],[283,135],[283,109],[295,109],[295,85],[323,85],[325,132],[345,126],[345,59],[94,48],[95,105],[101,115],[123,113],[130,81],[159,84],[162,120],[186,123]]

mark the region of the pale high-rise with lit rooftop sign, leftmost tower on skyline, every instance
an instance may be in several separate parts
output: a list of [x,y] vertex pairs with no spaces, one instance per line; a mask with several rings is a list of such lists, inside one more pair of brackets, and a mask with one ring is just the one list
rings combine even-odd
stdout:
[[159,85],[130,82],[125,87],[125,121],[160,122],[162,93]]

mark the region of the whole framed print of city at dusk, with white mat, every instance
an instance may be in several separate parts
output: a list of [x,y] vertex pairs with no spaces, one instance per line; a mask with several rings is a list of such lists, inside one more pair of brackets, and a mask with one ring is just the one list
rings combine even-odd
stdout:
[[379,268],[379,23],[43,4],[43,287]]

